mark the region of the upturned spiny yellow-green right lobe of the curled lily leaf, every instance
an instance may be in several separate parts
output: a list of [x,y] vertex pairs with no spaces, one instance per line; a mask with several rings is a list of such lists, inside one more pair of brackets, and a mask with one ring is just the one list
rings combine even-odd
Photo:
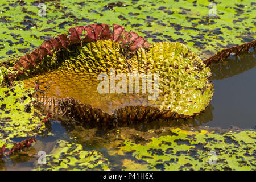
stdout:
[[159,74],[160,98],[156,103],[160,109],[194,115],[208,106],[213,85],[207,78],[212,73],[184,44],[159,42],[152,44],[146,54],[142,49],[138,52],[138,62],[143,63],[139,70]]

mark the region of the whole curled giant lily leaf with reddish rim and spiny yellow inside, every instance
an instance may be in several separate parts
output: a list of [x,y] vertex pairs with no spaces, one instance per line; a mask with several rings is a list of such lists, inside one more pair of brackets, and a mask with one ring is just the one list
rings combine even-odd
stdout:
[[[95,31],[88,31],[83,35],[83,30],[88,27]],[[42,70],[48,70],[45,74],[24,80],[28,87],[34,85],[35,80],[51,81],[49,85],[52,84],[52,88],[48,94],[35,96],[40,106],[43,105],[45,114],[53,113],[56,118],[65,120],[113,124],[147,121],[158,117],[188,118],[208,106],[213,95],[213,85],[208,81],[208,77],[211,76],[210,69],[205,67],[199,56],[186,46],[178,42],[161,42],[149,46],[141,36],[133,32],[127,33],[121,26],[114,25],[112,35],[107,30],[109,28],[106,24],[71,28],[69,38],[62,34],[61,37],[57,36],[59,42],[55,42],[54,38],[50,42],[44,42],[30,55],[21,57],[14,65],[13,69],[18,71],[14,76],[18,78],[24,78],[24,72],[34,75]],[[81,38],[78,34],[82,35]],[[107,36],[104,37],[102,34]],[[91,39],[96,37],[103,40],[96,39],[96,42],[92,42]],[[79,39],[83,41],[82,46]],[[69,45],[64,44],[64,40],[67,40]],[[61,47],[63,49],[60,49]],[[157,73],[159,91],[156,92],[159,97],[154,98],[156,101],[144,99],[144,104],[128,102],[127,105],[120,106],[123,102],[119,101],[118,107],[110,112],[100,106],[96,107],[95,102],[96,105],[97,102],[109,105],[105,104],[106,98],[102,98],[98,93],[96,80],[97,75],[109,73],[110,69],[126,76],[128,73],[147,75]],[[94,78],[88,75],[94,75]],[[87,81],[84,78],[87,78]],[[126,99],[121,96],[123,97],[121,100]],[[144,98],[138,96],[136,99],[140,97]],[[110,97],[107,100],[118,101],[120,96]],[[118,122],[115,119],[118,119]]]

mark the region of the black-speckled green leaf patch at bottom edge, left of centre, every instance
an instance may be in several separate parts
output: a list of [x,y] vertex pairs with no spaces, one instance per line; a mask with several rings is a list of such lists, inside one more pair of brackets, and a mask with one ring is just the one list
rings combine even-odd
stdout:
[[80,144],[58,140],[46,155],[46,164],[35,170],[109,170],[109,161],[98,151],[85,151]]

